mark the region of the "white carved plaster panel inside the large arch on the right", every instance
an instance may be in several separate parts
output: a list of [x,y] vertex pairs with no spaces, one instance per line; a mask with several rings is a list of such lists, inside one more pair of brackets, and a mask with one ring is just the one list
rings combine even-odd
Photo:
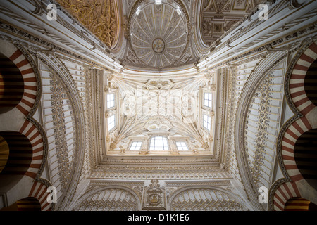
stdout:
[[248,108],[244,144],[256,188],[271,186],[275,162],[275,142],[282,115],[282,84],[285,62],[261,81]]

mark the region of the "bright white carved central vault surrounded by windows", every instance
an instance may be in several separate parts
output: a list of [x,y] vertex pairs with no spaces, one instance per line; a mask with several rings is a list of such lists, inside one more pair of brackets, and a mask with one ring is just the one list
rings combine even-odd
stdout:
[[[123,79],[117,75],[111,77],[109,85],[118,88],[117,98],[120,99],[118,103],[120,129],[118,135],[113,131],[107,136],[107,140],[112,144],[106,153],[116,155],[120,151],[120,155],[133,155],[136,152],[129,150],[130,144],[139,140],[143,141],[140,153],[147,155],[151,136],[163,135],[171,140],[171,137],[179,134],[182,135],[182,140],[187,141],[189,148],[187,152],[179,152],[180,154],[196,154],[201,150],[201,155],[210,155],[211,146],[205,144],[205,148],[202,147],[207,140],[202,136],[197,122],[199,90],[201,86],[207,89],[206,83],[202,75],[173,80],[147,79],[147,77]],[[211,85],[211,89],[213,86]],[[109,91],[109,87],[106,89]],[[139,138],[137,137],[139,134],[146,137]],[[161,155],[169,155],[172,152],[178,154],[175,143],[169,142],[170,151],[162,152]]]

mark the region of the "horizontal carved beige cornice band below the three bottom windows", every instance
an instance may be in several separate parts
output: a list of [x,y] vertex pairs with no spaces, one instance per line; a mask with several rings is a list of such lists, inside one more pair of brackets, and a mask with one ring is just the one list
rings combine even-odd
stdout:
[[[139,157],[140,158],[140,157]],[[123,160],[121,160],[123,161]],[[94,169],[91,178],[95,179],[164,179],[164,180],[208,180],[208,179],[230,179],[230,174],[225,169],[221,169],[219,165],[208,166],[201,165],[199,160],[124,160],[124,165],[111,162],[108,165],[100,165],[98,169]],[[135,164],[135,161],[141,161]],[[143,162],[142,162],[143,161]],[[169,162],[168,162],[169,161]],[[182,161],[185,161],[182,163]],[[160,163],[161,162],[161,163]],[[173,163],[173,166],[171,164]],[[128,166],[129,165],[129,166]],[[142,165],[142,166],[140,166]],[[189,165],[189,166],[186,166]]]

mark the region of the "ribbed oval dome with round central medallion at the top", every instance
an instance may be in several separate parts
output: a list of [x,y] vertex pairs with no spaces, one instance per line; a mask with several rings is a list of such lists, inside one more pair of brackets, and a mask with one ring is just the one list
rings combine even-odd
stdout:
[[135,55],[154,68],[177,61],[187,46],[187,21],[178,4],[142,3],[132,15],[130,37]]

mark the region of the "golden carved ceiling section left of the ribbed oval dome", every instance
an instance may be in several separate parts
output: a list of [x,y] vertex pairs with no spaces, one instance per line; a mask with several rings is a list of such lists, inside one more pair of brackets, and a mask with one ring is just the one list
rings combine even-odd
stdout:
[[120,15],[116,0],[58,0],[58,3],[106,46],[111,48],[116,45],[120,32]]

